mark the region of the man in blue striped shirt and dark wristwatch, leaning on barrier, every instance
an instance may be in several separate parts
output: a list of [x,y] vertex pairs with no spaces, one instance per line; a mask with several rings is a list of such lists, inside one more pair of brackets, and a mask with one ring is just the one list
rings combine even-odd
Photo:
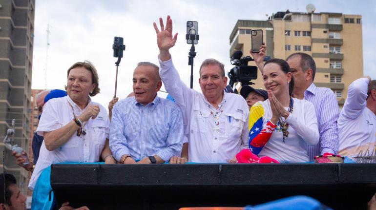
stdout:
[[164,163],[181,154],[182,113],[178,105],[157,96],[162,86],[158,71],[153,63],[138,63],[134,97],[120,100],[112,109],[109,146],[120,163]]

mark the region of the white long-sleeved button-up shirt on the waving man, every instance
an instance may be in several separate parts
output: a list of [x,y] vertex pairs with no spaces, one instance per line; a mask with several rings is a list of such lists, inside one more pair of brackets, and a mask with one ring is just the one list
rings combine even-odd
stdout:
[[[242,96],[224,92],[216,109],[202,93],[188,88],[180,80],[172,59],[159,60],[159,63],[159,74],[166,90],[182,110],[190,162],[227,163],[242,148],[248,147],[250,111]],[[216,112],[218,120],[214,118]]]

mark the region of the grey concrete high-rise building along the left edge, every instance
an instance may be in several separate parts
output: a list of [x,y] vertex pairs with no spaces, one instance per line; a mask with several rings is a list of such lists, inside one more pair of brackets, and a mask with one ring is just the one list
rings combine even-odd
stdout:
[[[0,0],[0,150],[6,130],[15,119],[14,143],[29,149],[31,119],[31,73],[33,60],[35,0]],[[3,171],[3,156],[0,171]],[[28,172],[20,168],[9,150],[5,170],[16,176],[26,193]]]

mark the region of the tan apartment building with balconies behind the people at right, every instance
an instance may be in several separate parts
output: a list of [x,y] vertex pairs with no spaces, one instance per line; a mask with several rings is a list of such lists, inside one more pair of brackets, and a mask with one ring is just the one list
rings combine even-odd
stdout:
[[[311,55],[316,63],[314,84],[331,88],[343,106],[347,87],[363,76],[360,15],[277,12],[267,21],[238,20],[230,35],[230,56],[237,50],[250,55],[251,30],[262,29],[267,55],[286,59],[295,52]],[[249,65],[255,65],[250,62]],[[253,81],[264,88],[260,72]]]

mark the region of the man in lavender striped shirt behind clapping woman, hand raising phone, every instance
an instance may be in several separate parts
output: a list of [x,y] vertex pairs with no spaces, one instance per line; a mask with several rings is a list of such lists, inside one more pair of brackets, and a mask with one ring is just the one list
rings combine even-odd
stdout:
[[[258,68],[263,71],[266,46],[260,47],[259,53],[252,53]],[[320,141],[317,145],[306,145],[310,161],[317,155],[324,153],[337,154],[338,152],[338,126],[339,108],[334,92],[326,87],[316,87],[313,84],[316,73],[316,64],[313,58],[306,53],[293,53],[287,59],[292,76],[294,87],[292,97],[305,99],[311,102],[316,111]]]

